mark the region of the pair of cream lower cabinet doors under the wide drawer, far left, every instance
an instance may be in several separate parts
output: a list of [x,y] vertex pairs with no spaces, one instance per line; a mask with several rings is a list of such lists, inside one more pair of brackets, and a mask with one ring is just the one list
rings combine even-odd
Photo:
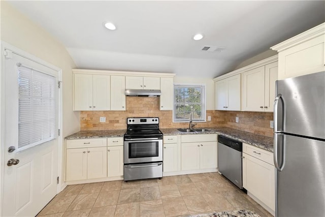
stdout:
[[67,181],[107,176],[106,147],[67,149]]

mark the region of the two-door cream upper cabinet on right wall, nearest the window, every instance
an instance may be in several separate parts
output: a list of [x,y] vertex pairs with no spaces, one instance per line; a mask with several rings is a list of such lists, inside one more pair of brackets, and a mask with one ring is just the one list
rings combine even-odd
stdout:
[[241,75],[215,82],[216,110],[240,111]]

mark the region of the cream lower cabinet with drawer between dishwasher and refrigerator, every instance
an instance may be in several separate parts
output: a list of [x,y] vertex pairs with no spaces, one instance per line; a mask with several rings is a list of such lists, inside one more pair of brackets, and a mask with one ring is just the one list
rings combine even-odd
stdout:
[[275,211],[275,167],[273,153],[243,144],[243,187],[248,194]]

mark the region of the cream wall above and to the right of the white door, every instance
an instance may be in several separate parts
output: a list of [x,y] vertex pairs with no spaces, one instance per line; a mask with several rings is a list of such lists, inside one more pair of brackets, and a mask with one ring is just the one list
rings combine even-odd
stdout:
[[[62,69],[63,138],[79,131],[79,112],[73,112],[72,68],[75,63],[66,48],[6,1],[1,1],[1,40]],[[62,144],[64,154],[63,141]]]

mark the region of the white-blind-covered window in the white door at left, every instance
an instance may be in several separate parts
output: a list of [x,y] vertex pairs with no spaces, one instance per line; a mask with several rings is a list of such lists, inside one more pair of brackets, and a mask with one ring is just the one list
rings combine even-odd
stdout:
[[18,150],[56,138],[57,78],[18,65]]

